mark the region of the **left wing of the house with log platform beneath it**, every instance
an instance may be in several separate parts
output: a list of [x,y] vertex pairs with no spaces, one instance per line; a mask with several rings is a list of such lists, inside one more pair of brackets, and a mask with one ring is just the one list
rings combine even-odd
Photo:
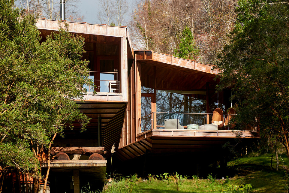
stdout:
[[[113,144],[118,146],[122,128],[129,122],[127,80],[134,57],[127,28],[67,23],[69,32],[85,41],[83,59],[89,61],[94,87],[83,85],[87,94],[79,103],[81,112],[91,119],[85,132],[80,132],[80,124],[74,122],[73,130],[64,130],[64,138],[55,138],[50,151],[51,192],[79,192],[89,179],[104,182],[106,156]],[[36,25],[45,40],[59,25],[64,27],[64,21],[40,18]],[[46,168],[47,161],[42,166]]]

